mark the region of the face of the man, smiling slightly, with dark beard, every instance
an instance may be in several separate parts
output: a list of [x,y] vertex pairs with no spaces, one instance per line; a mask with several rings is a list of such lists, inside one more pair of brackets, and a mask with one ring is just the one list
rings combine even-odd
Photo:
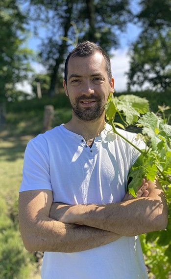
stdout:
[[109,82],[106,63],[99,52],[70,58],[67,85],[63,81],[63,86],[74,116],[83,121],[95,121],[104,115],[109,93],[114,92],[114,80]]

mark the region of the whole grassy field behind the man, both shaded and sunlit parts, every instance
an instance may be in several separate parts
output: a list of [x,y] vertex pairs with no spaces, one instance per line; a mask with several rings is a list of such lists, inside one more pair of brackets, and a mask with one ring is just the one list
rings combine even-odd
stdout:
[[[171,93],[136,94],[150,99],[150,107],[155,112],[157,104],[171,106]],[[65,95],[44,97],[9,103],[7,123],[0,129],[0,279],[40,279],[36,257],[25,250],[20,237],[18,191],[26,143],[42,131],[46,104],[55,108],[52,126],[70,120],[71,108]]]

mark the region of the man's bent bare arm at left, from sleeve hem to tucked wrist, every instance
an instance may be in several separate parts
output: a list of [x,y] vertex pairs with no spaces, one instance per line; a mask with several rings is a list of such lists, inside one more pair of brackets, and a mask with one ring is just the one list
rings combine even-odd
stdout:
[[20,193],[19,223],[29,251],[79,252],[108,244],[121,236],[85,225],[64,224],[49,217],[52,193],[33,190]]

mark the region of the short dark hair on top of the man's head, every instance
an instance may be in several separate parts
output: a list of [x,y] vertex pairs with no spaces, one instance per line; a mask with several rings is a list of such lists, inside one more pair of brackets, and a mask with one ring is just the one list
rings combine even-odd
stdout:
[[64,79],[65,83],[67,84],[67,75],[68,75],[68,62],[70,58],[73,57],[86,57],[91,56],[95,52],[99,52],[103,55],[105,62],[106,62],[106,71],[109,78],[109,82],[112,78],[112,70],[111,70],[111,63],[108,54],[98,45],[93,42],[85,41],[77,45],[68,55],[66,62],[65,62],[65,69],[64,69]]

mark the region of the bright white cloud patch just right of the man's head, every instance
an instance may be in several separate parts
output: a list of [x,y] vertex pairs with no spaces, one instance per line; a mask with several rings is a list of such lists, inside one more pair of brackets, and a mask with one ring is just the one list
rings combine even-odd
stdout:
[[114,55],[111,58],[112,74],[115,79],[116,92],[122,92],[126,90],[127,77],[125,72],[129,69],[129,57],[127,55],[128,49],[121,49],[113,51]]

